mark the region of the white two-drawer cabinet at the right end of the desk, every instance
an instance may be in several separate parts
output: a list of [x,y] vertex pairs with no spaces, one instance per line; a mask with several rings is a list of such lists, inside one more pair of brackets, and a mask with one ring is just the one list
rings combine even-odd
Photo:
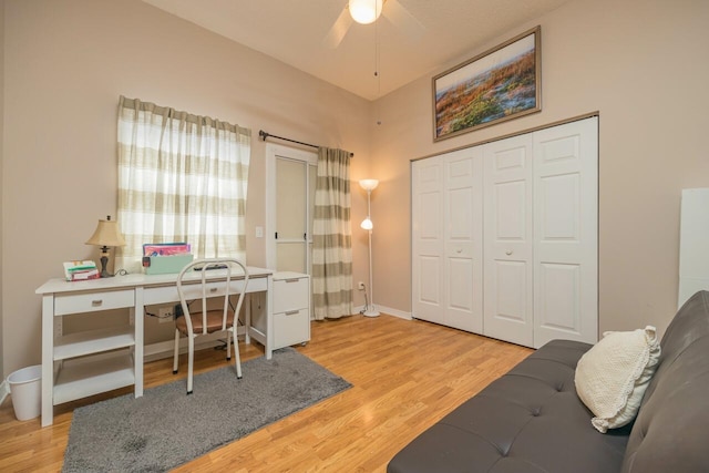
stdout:
[[310,276],[274,275],[274,349],[310,340]]

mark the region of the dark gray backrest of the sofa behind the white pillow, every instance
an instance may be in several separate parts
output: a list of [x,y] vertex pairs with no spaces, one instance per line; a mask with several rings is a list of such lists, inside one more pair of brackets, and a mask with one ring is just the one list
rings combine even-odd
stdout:
[[707,472],[709,292],[687,300],[660,345],[660,363],[645,392],[623,472]]

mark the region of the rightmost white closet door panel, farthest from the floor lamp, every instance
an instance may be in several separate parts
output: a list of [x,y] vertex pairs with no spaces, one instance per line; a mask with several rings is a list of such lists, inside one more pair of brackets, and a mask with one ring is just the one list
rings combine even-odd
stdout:
[[598,340],[598,120],[534,138],[534,347]]

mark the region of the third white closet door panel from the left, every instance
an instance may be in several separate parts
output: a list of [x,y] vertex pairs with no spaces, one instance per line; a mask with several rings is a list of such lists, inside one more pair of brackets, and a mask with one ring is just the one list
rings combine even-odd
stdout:
[[482,146],[484,335],[533,343],[532,135]]

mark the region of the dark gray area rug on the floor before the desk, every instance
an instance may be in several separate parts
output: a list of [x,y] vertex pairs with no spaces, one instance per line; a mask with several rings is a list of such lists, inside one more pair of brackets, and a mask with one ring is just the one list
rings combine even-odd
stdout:
[[[351,387],[292,348],[74,410],[63,472],[164,472]],[[183,367],[186,370],[186,367]]]

